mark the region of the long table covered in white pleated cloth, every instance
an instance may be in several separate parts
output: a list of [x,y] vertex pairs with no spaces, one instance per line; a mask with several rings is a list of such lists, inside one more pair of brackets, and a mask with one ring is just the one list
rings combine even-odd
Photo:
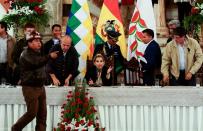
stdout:
[[[60,121],[61,105],[74,87],[46,88],[47,131]],[[203,88],[89,88],[107,131],[203,131]],[[0,88],[0,131],[26,111],[21,88]],[[24,131],[33,131],[35,121]]]

